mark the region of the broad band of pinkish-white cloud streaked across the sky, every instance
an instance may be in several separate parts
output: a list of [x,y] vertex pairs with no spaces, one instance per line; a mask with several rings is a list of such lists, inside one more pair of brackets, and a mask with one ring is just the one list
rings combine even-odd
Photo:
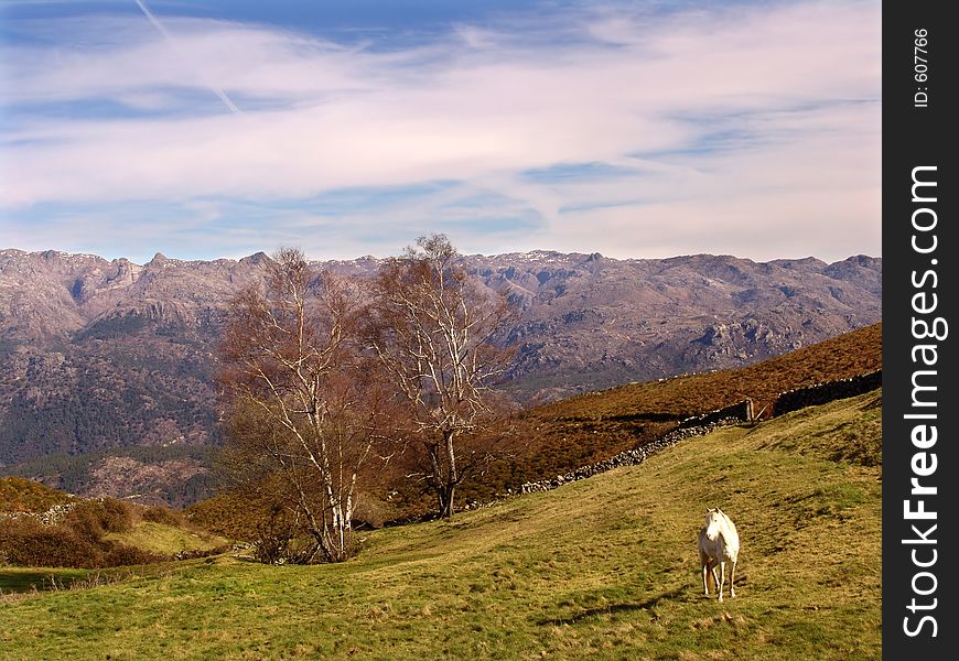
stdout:
[[[175,56],[146,21],[114,20],[99,42],[98,24],[75,23],[83,39],[66,51],[8,45],[3,56],[17,64],[0,84],[10,109],[0,208],[281,201],[443,180],[494,191],[509,201],[504,213],[536,209],[542,227],[525,248],[716,251],[709,246],[724,239],[701,240],[700,227],[721,225],[726,251],[745,257],[879,252],[879,4],[666,15],[605,8],[564,21],[560,32],[579,39],[538,34],[525,45],[502,30],[457,25],[442,42],[377,51],[168,18]],[[229,115],[211,85],[245,115]],[[104,100],[149,112],[83,113]],[[53,102],[76,111],[21,112]],[[562,184],[521,176],[592,162],[638,172]],[[634,199],[643,204],[602,207]],[[445,202],[398,203],[387,215],[427,225]],[[577,205],[600,208],[560,213]],[[342,223],[373,227],[364,214]],[[800,218],[804,236],[784,231]],[[808,231],[817,223],[848,231],[827,241]],[[478,234],[467,240],[482,243]]]

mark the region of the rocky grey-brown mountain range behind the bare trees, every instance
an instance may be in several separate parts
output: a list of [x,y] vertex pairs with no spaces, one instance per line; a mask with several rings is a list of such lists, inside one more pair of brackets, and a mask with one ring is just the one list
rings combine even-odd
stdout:
[[[230,297],[269,257],[137,264],[0,250],[0,473],[183,505],[208,485]],[[882,318],[882,259],[461,257],[517,314],[504,389],[531,405],[750,365]],[[316,262],[369,278],[373,257]]]

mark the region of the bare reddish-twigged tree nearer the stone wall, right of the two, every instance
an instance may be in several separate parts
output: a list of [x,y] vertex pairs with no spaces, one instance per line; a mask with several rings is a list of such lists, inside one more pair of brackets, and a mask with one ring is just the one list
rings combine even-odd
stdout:
[[376,280],[371,340],[409,404],[425,451],[422,477],[444,518],[456,488],[488,458],[464,442],[497,419],[492,386],[509,355],[493,343],[509,314],[506,299],[483,291],[456,258],[444,235],[432,235],[388,260]]

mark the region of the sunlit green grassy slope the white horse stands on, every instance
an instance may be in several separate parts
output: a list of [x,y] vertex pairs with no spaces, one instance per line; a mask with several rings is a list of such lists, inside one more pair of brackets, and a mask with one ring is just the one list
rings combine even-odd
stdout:
[[[881,397],[377,530],[341,565],[219,556],[6,597],[0,659],[879,659]],[[722,604],[694,542],[715,506],[742,538]]]

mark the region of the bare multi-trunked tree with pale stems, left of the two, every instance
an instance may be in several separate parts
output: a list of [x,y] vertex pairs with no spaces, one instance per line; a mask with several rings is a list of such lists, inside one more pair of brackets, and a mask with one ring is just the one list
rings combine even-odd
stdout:
[[359,315],[348,283],[314,273],[295,249],[280,250],[265,288],[231,302],[219,377],[228,465],[312,540],[289,560],[353,553],[358,476],[389,436],[379,361],[356,342]]

